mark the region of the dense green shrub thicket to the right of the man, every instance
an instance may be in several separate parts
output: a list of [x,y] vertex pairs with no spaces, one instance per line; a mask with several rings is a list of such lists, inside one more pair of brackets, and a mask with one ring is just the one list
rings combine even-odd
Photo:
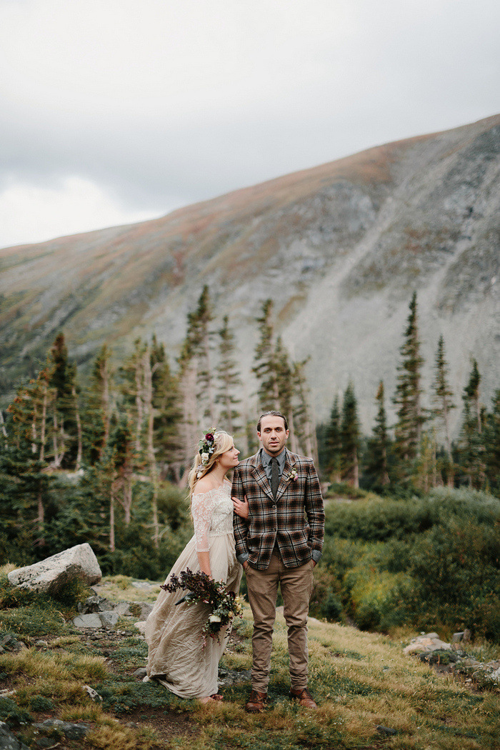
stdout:
[[500,643],[499,499],[440,489],[335,503],[327,514],[316,573],[328,581],[324,607],[337,598],[365,629],[468,627]]

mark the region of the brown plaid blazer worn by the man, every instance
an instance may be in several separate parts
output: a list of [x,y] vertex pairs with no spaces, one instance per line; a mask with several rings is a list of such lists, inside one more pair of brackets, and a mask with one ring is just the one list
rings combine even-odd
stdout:
[[287,568],[304,565],[312,550],[322,551],[325,511],[313,460],[286,450],[286,460],[276,499],[262,468],[259,454],[235,468],[232,495],[247,496],[247,519],[233,517],[236,554],[248,553],[253,568],[266,570],[276,542]]

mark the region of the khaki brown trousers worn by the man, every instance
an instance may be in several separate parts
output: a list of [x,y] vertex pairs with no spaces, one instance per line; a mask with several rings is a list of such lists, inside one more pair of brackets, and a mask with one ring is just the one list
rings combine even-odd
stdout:
[[286,568],[276,553],[267,570],[247,568],[248,601],[253,613],[252,688],[268,691],[271,648],[278,583],[283,596],[283,615],[288,628],[292,690],[307,687],[307,613],[313,592],[313,561]]

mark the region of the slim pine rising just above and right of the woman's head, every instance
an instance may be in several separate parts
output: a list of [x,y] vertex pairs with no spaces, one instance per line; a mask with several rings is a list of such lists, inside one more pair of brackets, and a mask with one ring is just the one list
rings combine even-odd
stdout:
[[230,435],[234,435],[241,428],[241,414],[236,408],[241,404],[241,399],[235,395],[238,386],[241,386],[241,377],[237,369],[235,359],[235,335],[229,329],[229,318],[223,317],[223,326],[219,331],[219,365],[217,367],[217,378],[219,387],[215,401],[221,404],[219,424]]

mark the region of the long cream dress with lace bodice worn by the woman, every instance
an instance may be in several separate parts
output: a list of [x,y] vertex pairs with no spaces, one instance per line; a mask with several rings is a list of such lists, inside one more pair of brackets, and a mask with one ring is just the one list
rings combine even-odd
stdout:
[[[193,495],[191,511],[193,538],[169,573],[178,575],[190,568],[199,571],[196,552],[210,552],[210,569],[215,580],[223,580],[238,593],[241,565],[235,556],[232,531],[231,484]],[[148,677],[160,679],[162,685],[180,697],[206,697],[217,693],[217,671],[226,648],[229,632],[220,631],[220,643],[207,638],[203,648],[202,627],[210,610],[205,604],[178,604],[185,591],[160,592],[145,625],[148,643]],[[146,678],[145,678],[146,679]]]

